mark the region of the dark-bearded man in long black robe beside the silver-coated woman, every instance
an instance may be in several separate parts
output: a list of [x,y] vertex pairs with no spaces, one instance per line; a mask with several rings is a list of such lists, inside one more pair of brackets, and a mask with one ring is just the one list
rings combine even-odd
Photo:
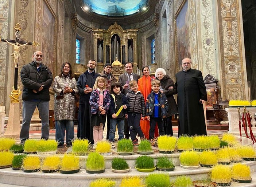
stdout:
[[86,70],[80,75],[77,81],[77,88],[80,94],[79,99],[79,111],[78,111],[78,127],[77,127],[77,138],[88,139],[90,143],[93,142],[93,126],[90,126],[90,96],[93,91],[93,85],[95,80],[100,74],[95,72],[96,61],[89,60]]

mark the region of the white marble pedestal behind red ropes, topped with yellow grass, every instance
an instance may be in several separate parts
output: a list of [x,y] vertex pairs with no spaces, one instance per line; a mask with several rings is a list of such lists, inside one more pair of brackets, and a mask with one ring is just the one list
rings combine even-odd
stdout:
[[[228,113],[229,133],[232,133],[232,134],[235,134],[235,135],[240,135],[240,133],[239,133],[239,117],[238,117],[237,108],[225,108],[225,110]],[[249,111],[249,113],[252,116],[254,116],[254,114],[256,113],[256,108],[246,108],[246,110]],[[244,111],[244,109],[240,108],[241,117],[242,117],[242,112],[243,111]],[[242,125],[243,125],[243,122],[241,121],[242,136],[246,137]],[[247,123],[247,132],[248,132],[248,135],[250,135],[248,123]],[[252,126],[252,132],[253,132],[253,135],[256,136],[256,127],[255,126]]]

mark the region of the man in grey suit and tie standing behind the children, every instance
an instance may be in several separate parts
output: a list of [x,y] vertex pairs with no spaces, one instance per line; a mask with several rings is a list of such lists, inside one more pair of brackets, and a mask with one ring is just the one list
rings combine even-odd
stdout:
[[[140,76],[137,73],[132,73],[133,70],[133,64],[132,62],[126,62],[125,65],[125,73],[121,74],[118,78],[118,82],[121,86],[123,86],[122,93],[126,95],[129,92],[129,83],[127,81],[138,81]],[[127,84],[128,83],[128,84]],[[129,139],[129,126],[127,123],[127,119],[124,121],[124,135],[126,139]]]

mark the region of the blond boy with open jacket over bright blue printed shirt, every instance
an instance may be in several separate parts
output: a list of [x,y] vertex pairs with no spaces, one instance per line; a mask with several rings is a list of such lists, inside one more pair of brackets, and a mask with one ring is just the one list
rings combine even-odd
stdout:
[[151,81],[152,92],[147,97],[146,115],[150,121],[149,138],[151,145],[156,145],[154,140],[155,126],[158,124],[159,135],[164,135],[163,118],[168,112],[167,97],[159,91],[160,81]]

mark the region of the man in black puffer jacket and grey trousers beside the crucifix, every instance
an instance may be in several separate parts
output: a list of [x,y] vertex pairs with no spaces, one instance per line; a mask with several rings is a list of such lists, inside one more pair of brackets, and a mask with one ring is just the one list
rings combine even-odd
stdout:
[[42,121],[42,139],[49,138],[49,88],[53,82],[51,70],[42,64],[43,54],[36,51],[33,62],[24,65],[20,71],[20,78],[24,86],[22,93],[23,100],[23,121],[20,131],[21,143],[29,138],[29,128],[32,115],[36,106]]

